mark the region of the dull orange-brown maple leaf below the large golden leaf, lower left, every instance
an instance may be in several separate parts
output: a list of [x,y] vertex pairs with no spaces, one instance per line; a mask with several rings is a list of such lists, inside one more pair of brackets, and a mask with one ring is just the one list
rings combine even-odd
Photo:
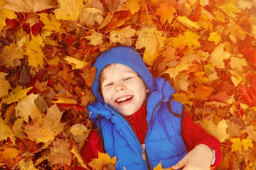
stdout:
[[73,159],[70,144],[64,139],[56,138],[53,145],[54,147],[50,147],[51,155],[49,156],[52,164],[60,163],[61,166],[65,164],[70,165]]

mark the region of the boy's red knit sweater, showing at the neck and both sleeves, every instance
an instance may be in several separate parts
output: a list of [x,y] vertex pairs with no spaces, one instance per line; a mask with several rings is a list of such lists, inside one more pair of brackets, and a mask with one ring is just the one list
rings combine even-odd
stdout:
[[[211,167],[217,167],[221,162],[221,143],[214,136],[207,134],[200,125],[195,124],[186,111],[184,111],[184,113],[187,116],[183,118],[183,130],[181,136],[186,145],[186,150],[189,152],[198,144],[206,144],[216,152],[216,160]],[[148,127],[146,116],[146,105],[143,105],[131,116],[125,116],[131,123],[142,143]],[[92,159],[98,158],[98,150],[99,152],[103,152],[103,147],[100,137],[95,130],[90,132],[87,140],[88,141],[81,152],[81,156],[83,156],[86,163],[89,163]],[[78,166],[76,170],[84,170],[84,168]]]

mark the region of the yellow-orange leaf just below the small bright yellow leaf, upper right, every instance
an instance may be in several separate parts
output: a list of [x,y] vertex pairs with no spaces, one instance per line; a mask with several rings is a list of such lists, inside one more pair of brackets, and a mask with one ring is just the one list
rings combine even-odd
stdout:
[[223,43],[215,47],[210,57],[210,62],[217,68],[225,68],[223,59],[228,59],[231,56],[229,52],[224,51],[224,45]]

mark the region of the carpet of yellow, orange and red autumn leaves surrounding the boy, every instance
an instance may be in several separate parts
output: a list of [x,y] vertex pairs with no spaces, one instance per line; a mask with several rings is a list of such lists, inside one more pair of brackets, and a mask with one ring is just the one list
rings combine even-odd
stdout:
[[87,167],[92,65],[127,45],[220,140],[218,170],[256,170],[255,16],[255,0],[0,0],[0,169]]

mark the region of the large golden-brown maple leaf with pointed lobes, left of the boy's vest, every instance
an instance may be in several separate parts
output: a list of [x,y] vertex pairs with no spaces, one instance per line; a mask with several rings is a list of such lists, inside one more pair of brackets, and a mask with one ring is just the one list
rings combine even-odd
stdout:
[[[34,108],[36,110],[36,108]],[[27,125],[24,132],[28,139],[36,143],[53,141],[54,137],[61,133],[66,123],[61,123],[62,112],[59,111],[57,105],[47,108],[46,116],[38,111],[30,114],[30,116],[38,116],[34,125]]]

